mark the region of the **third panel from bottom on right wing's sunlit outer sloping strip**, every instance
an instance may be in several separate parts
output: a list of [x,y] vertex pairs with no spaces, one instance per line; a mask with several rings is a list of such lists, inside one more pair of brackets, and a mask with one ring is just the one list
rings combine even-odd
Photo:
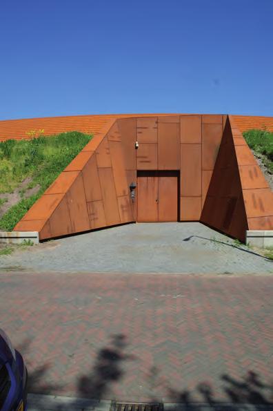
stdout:
[[[239,173],[243,190],[267,189],[269,186],[260,167],[256,165],[239,166]],[[273,204],[272,204],[273,211]]]

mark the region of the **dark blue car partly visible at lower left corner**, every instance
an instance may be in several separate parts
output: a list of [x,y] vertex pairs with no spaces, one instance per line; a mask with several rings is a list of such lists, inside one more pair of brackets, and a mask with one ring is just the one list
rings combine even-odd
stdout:
[[0,410],[26,411],[28,372],[21,354],[0,329]]

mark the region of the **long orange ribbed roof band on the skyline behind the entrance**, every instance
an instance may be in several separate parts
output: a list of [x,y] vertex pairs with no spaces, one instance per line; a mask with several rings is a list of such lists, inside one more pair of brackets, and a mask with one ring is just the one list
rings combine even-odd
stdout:
[[[58,117],[37,117],[19,120],[0,120],[0,141],[30,139],[39,134],[52,135],[65,131],[97,133],[111,118],[161,117],[168,115],[201,115],[202,113],[144,113],[103,114]],[[234,115],[241,132],[250,128],[273,131],[273,117]]]

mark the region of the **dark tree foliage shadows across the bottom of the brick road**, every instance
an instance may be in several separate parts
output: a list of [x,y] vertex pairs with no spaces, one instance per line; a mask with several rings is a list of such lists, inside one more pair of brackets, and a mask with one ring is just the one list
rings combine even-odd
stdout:
[[[88,406],[94,408],[102,399],[111,399],[111,384],[124,376],[122,362],[137,359],[135,356],[124,354],[127,346],[125,335],[114,334],[108,345],[99,350],[90,373],[78,376],[77,399],[71,399],[69,409],[79,409],[79,401],[84,409]],[[30,373],[30,392],[54,394],[58,390],[55,384],[52,386],[41,384],[47,370],[48,366],[44,365]],[[148,379],[153,381],[156,386],[156,379],[159,378],[159,370],[152,367]],[[252,411],[273,410],[273,384],[264,383],[261,376],[253,370],[247,371],[240,379],[235,379],[229,374],[222,374],[219,378],[223,383],[221,394],[219,391],[216,394],[213,385],[205,381],[200,381],[192,390],[179,391],[165,386],[168,391],[168,401],[175,402],[173,405],[172,403],[168,404],[168,411],[179,411],[179,407],[183,411],[202,411],[205,409],[204,407],[215,411],[238,411],[250,410],[249,405],[251,405]],[[61,411],[68,408],[67,404],[58,403],[58,399],[55,401],[57,402],[54,404],[55,410]],[[134,402],[133,398],[132,402]],[[161,403],[162,399],[154,395],[150,397],[149,402]],[[177,403],[179,403],[179,407]]]

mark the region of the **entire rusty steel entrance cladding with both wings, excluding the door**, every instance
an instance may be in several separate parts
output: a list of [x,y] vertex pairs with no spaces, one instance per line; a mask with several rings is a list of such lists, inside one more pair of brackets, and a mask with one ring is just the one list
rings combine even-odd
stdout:
[[232,118],[139,115],[108,119],[14,230],[43,240],[136,221],[129,185],[149,170],[180,172],[181,221],[241,240],[273,227],[272,191]]

